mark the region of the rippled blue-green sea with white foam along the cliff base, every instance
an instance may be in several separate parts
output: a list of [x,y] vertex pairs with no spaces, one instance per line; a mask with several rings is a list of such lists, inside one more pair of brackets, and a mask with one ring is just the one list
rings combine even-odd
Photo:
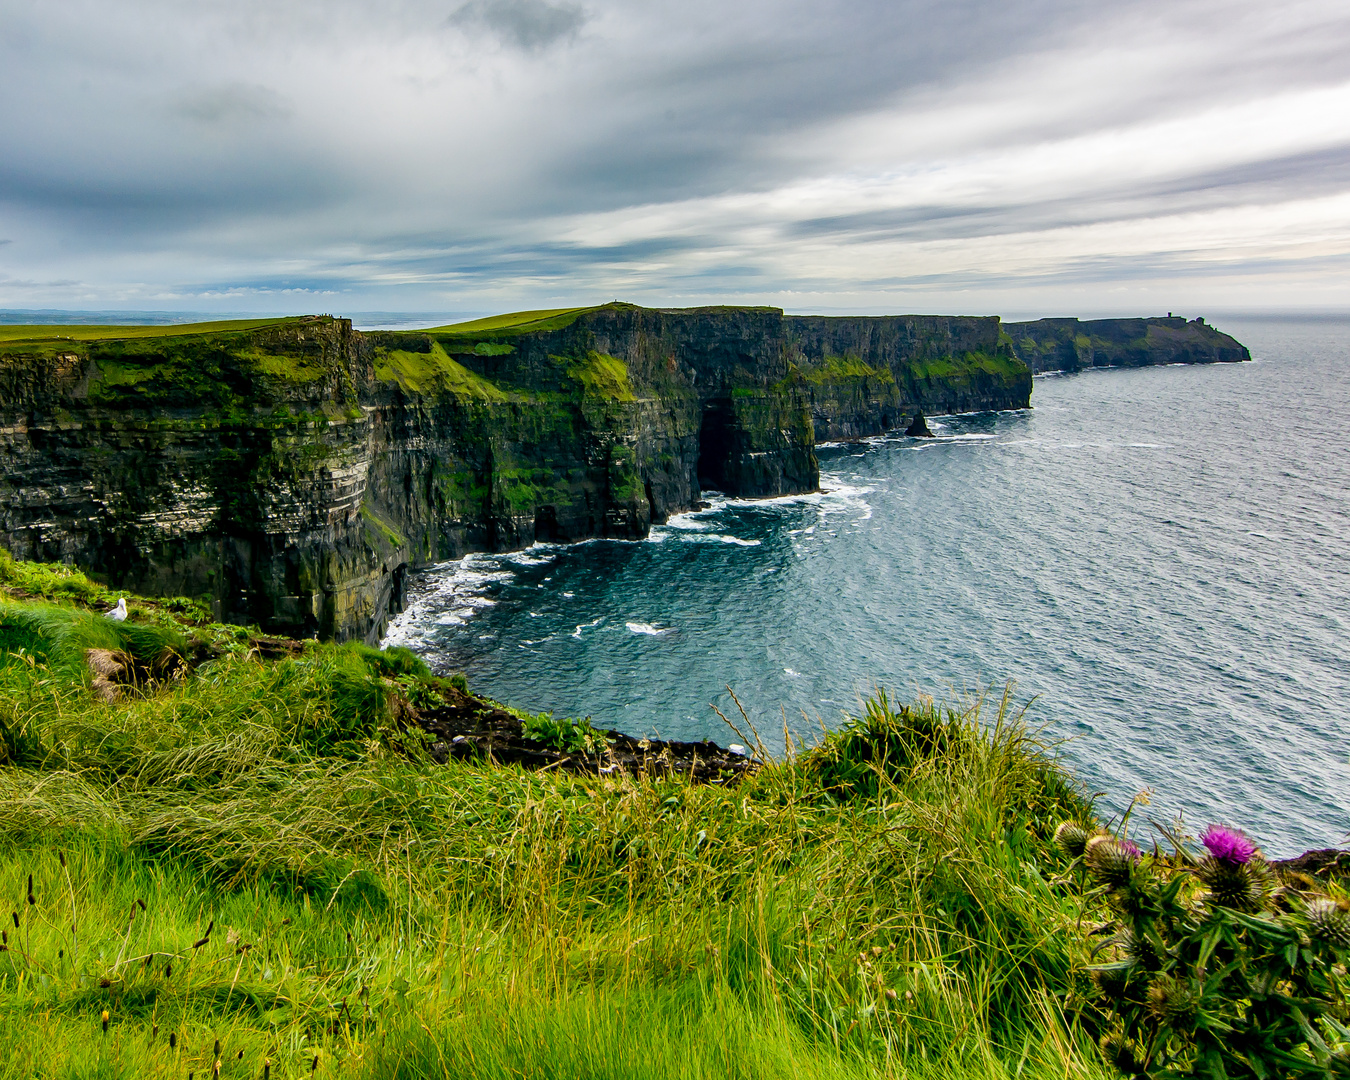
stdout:
[[1350,830],[1350,320],[1224,320],[1245,364],[1035,381],[934,440],[822,447],[819,494],[417,575],[389,641],[494,698],[772,749],[884,686],[1034,698],[1100,806],[1273,855]]

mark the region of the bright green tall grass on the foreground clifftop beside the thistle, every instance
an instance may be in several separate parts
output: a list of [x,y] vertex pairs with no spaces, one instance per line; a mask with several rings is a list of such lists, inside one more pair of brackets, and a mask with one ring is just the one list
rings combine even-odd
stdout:
[[[878,694],[733,787],[436,765],[406,652],[0,586],[0,1080],[1106,1075],[1089,807],[1007,698]],[[90,643],[177,674],[100,701]]]

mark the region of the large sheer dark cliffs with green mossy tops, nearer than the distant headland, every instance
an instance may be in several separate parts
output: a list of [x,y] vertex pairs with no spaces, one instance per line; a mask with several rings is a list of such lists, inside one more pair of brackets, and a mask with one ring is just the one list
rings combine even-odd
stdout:
[[817,439],[1019,408],[998,320],[606,305],[0,343],[0,544],[292,634],[374,637],[409,567],[813,490]]

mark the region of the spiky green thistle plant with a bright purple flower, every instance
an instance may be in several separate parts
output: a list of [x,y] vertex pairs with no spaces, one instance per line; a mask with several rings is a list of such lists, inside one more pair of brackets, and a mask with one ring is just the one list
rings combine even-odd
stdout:
[[1204,850],[1145,855],[1065,824],[1057,846],[1114,918],[1089,968],[1106,1060],[1139,1080],[1350,1076],[1342,896],[1285,890],[1257,845],[1211,826]]

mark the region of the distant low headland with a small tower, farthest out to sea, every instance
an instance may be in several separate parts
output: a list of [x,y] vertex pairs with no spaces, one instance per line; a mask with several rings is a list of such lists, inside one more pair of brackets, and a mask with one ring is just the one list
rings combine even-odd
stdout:
[[1038,319],[1004,323],[1013,354],[1035,374],[1091,367],[1250,360],[1246,347],[1203,319]]

